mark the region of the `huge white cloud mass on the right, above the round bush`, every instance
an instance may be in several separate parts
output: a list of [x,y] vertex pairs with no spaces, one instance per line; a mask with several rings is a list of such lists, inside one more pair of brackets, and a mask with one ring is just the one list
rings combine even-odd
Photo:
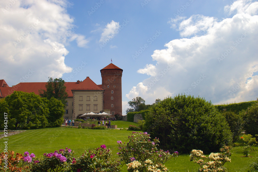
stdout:
[[[233,8],[234,3],[242,4]],[[151,76],[133,87],[127,98],[140,96],[152,104],[156,98],[185,93],[213,103],[256,100],[258,16],[253,11],[257,6],[250,1],[234,3],[232,18],[219,21],[193,15],[180,20],[176,24],[180,35],[194,37],[175,39],[165,44],[166,49],[155,50],[156,65],[138,70]]]

